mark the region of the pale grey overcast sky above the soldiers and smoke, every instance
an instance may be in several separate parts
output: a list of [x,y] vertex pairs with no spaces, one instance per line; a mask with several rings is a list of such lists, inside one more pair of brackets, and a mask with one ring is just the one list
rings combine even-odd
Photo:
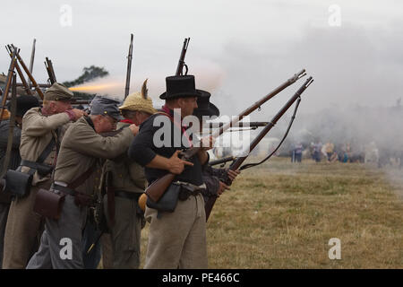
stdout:
[[[403,91],[401,1],[2,1],[0,72],[4,45],[21,48],[33,74],[47,79],[49,57],[59,82],[84,66],[103,66],[124,93],[126,56],[134,34],[132,90],[149,78],[154,100],[175,74],[185,37],[189,74],[222,113],[237,114],[305,68],[315,82],[301,112],[356,103],[392,106]],[[71,9],[71,13],[70,13]],[[4,18],[5,17],[5,18]],[[71,21],[70,21],[71,20]],[[279,109],[300,80],[263,108]]]

